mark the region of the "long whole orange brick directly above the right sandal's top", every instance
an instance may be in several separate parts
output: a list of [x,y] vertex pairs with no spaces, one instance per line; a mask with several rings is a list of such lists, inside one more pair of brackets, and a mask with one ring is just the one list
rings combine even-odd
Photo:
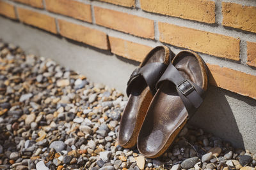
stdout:
[[164,43],[218,57],[239,60],[240,40],[237,38],[163,22],[159,22],[159,33],[159,39]]

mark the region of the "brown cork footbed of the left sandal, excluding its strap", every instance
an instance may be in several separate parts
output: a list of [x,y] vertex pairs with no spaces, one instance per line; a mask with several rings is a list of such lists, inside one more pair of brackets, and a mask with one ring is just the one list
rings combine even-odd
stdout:
[[[168,65],[169,57],[170,50],[166,46],[157,46],[148,53],[140,67],[150,62],[163,62]],[[147,114],[148,106],[153,99],[145,81],[135,82],[134,87],[136,88],[129,96],[118,132],[118,144],[124,148],[132,148],[136,145],[138,133]]]

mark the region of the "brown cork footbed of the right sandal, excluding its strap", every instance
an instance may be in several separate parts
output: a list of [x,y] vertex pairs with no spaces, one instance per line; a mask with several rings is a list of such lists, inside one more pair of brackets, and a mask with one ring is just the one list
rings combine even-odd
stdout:
[[[178,53],[172,63],[185,78],[207,89],[207,68],[194,52]],[[157,90],[138,135],[137,147],[145,157],[161,156],[188,122],[188,112],[175,86],[166,81]]]

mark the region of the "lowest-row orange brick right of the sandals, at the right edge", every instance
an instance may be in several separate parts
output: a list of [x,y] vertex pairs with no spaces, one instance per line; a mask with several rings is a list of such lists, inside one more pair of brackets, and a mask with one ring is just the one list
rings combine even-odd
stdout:
[[211,71],[211,85],[256,99],[256,76],[213,64],[207,66]]

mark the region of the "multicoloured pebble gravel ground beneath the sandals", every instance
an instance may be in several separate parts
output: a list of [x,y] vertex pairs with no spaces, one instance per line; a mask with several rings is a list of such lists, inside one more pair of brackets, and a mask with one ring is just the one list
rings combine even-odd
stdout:
[[189,127],[158,159],[118,146],[127,97],[0,43],[0,169],[256,169],[256,154]]

